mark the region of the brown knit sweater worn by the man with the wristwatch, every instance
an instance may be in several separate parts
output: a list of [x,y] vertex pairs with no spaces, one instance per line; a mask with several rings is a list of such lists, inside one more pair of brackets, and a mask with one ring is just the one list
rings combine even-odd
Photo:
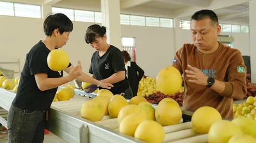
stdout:
[[[218,81],[225,82],[222,94],[202,85],[189,82],[185,69],[188,65],[201,69],[202,72]],[[183,110],[195,112],[201,106],[216,108],[222,118],[234,118],[233,99],[246,96],[246,67],[241,52],[219,43],[218,49],[210,54],[201,53],[194,44],[184,44],[176,52],[173,66],[184,76]]]

